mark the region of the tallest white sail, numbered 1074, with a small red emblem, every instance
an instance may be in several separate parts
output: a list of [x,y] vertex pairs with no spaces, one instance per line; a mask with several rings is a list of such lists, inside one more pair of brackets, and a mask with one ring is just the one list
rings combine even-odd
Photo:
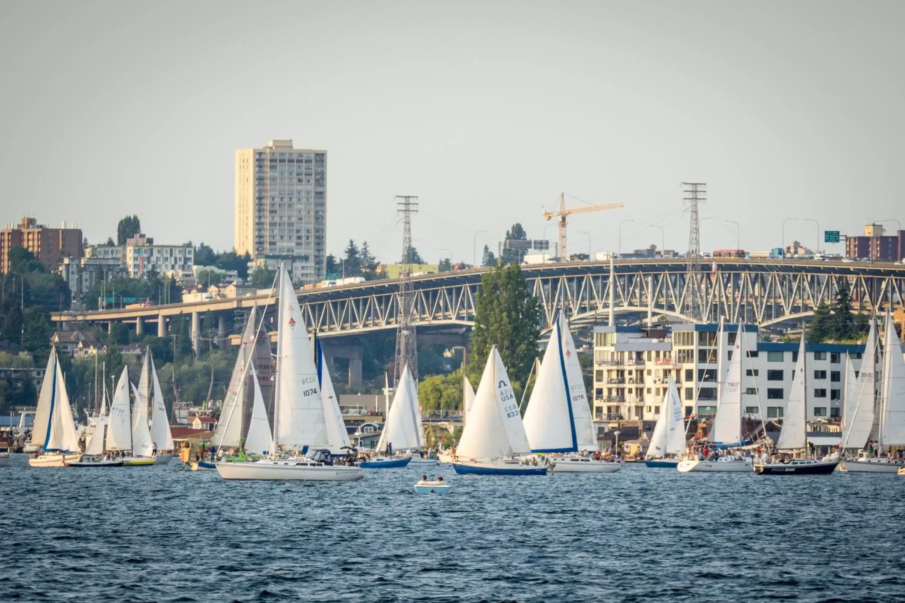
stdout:
[[308,329],[286,266],[280,266],[276,441],[289,448],[326,446],[327,428]]

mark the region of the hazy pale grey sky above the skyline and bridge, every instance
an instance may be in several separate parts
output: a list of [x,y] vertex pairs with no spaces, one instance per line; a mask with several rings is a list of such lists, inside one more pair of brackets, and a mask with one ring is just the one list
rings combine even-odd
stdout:
[[[0,221],[138,213],[157,242],[233,246],[233,150],[326,148],[328,250],[472,259],[564,191],[572,252],[776,247],[781,220],[905,221],[905,2],[2,3]],[[568,199],[569,205],[582,201]],[[894,222],[886,224],[895,227]],[[554,238],[556,227],[547,229]],[[813,246],[813,222],[786,241]],[[830,246],[842,251],[842,245]]]

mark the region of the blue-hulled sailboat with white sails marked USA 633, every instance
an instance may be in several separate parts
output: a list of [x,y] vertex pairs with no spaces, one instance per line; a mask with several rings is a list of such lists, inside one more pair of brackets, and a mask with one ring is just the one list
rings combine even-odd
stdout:
[[[514,458],[531,447],[519,414],[519,401],[496,345],[491,349],[474,396],[468,424],[462,431],[452,467],[458,474],[484,476],[543,476],[546,466]],[[537,457],[531,457],[536,463]]]

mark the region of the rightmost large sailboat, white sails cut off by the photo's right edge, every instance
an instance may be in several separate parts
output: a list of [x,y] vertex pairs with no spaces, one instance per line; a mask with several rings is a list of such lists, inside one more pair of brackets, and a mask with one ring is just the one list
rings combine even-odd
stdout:
[[[845,425],[840,448],[856,448],[861,450],[871,437],[876,424],[877,440],[881,447],[905,446],[905,360],[901,353],[901,340],[896,333],[892,318],[886,316],[886,332],[883,334],[883,371],[881,381],[880,403],[874,404],[874,386],[876,374],[872,369],[875,359],[874,326],[868,333],[867,344],[862,354],[861,371],[858,373],[853,397],[853,409],[850,416],[848,388],[845,400]],[[853,379],[851,361],[847,366],[846,378]],[[879,424],[878,424],[879,423]],[[888,449],[888,448],[887,448]],[[846,471],[871,473],[896,473],[905,467],[903,461],[893,461],[889,457],[843,458],[841,468]]]

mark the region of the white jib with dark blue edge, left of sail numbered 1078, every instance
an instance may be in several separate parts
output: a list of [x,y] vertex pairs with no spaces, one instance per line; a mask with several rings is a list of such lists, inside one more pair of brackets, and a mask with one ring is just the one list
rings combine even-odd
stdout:
[[[557,319],[540,361],[528,410],[522,419],[532,452],[575,452],[578,449],[561,335]],[[481,379],[481,385],[483,383]]]

